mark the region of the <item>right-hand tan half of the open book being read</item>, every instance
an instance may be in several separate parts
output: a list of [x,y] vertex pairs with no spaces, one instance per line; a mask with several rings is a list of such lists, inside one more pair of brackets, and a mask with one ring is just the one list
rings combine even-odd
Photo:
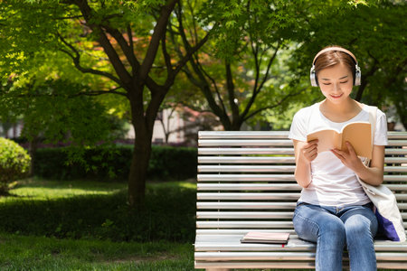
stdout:
[[347,152],[345,142],[349,141],[357,155],[372,159],[372,131],[370,123],[355,122],[344,127],[341,150]]

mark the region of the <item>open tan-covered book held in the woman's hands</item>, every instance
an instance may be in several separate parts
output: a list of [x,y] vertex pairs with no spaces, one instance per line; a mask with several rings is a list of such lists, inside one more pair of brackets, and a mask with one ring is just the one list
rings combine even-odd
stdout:
[[318,139],[318,153],[335,148],[347,152],[345,142],[348,141],[357,155],[372,159],[372,131],[369,122],[352,122],[341,131],[328,128],[307,135],[307,142],[314,139]]

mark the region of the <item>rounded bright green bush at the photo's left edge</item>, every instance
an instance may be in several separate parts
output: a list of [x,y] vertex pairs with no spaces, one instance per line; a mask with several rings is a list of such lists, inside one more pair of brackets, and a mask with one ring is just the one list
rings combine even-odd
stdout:
[[0,137],[0,194],[8,192],[9,182],[24,178],[30,164],[30,155],[22,146]]

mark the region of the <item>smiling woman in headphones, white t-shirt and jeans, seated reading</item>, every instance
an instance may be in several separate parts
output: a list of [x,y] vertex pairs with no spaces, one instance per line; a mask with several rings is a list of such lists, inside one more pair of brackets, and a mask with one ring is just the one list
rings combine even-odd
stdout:
[[318,153],[318,142],[307,142],[308,133],[368,122],[369,113],[364,104],[350,97],[353,86],[360,84],[360,70],[352,52],[339,46],[319,51],[313,61],[311,83],[319,87],[325,99],[300,109],[289,131],[296,156],[295,177],[302,187],[294,228],[299,238],[317,243],[317,270],[342,270],[345,246],[351,270],[376,270],[373,240],[377,220],[356,175],[373,185],[383,182],[385,115],[377,110],[369,167],[349,143],[347,152],[332,149]]

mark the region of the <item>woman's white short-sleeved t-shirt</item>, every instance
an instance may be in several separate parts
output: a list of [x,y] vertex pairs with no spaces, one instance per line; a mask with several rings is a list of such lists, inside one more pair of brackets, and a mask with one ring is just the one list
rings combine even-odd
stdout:
[[[335,128],[355,121],[369,121],[366,106],[355,117],[345,122],[333,122],[319,110],[320,103],[305,107],[296,113],[289,129],[289,138],[307,141],[307,134],[317,129]],[[387,121],[384,113],[377,110],[374,145],[387,145]],[[317,154],[311,162],[311,183],[303,188],[298,201],[326,206],[363,205],[370,202],[355,172],[342,164],[330,151]]]

